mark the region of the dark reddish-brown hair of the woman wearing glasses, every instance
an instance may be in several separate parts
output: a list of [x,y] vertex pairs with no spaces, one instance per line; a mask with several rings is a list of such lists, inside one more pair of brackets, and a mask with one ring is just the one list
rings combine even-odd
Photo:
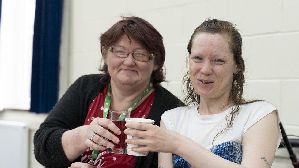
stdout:
[[[163,71],[165,48],[162,35],[149,22],[142,18],[134,16],[121,18],[122,20],[115,23],[100,36],[101,48],[105,47],[104,52],[101,51],[103,58],[107,55],[107,49],[117,43],[123,34],[126,34],[130,42],[131,39],[138,41],[142,47],[155,55],[155,65],[159,67],[153,71],[151,79],[153,80],[153,86],[157,87],[157,85],[165,81],[165,73]],[[104,63],[99,70],[103,72],[101,82],[108,84],[111,77],[107,64]]]

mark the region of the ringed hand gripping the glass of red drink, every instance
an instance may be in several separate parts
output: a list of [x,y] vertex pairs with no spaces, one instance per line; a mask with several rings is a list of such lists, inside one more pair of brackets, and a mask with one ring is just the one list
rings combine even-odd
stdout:
[[[116,144],[119,143],[119,139],[113,135],[110,131],[113,131],[117,135],[120,135],[120,129],[109,119],[107,118],[100,118],[97,117],[91,123],[86,127],[83,133],[83,142],[88,147],[91,147],[96,150],[105,150],[106,147],[114,148],[114,144],[109,142],[108,140],[105,140],[104,138],[107,138],[109,140],[112,140]],[[95,133],[95,135],[92,138],[92,135]],[[104,138],[103,138],[104,137]],[[100,146],[98,144],[101,144],[103,146]]]

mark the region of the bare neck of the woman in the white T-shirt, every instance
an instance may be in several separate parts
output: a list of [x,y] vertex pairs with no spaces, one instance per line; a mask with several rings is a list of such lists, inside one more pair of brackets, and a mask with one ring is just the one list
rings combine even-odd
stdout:
[[224,94],[219,98],[200,97],[200,105],[197,110],[201,115],[212,115],[219,114],[232,106],[233,103],[229,100],[229,94]]

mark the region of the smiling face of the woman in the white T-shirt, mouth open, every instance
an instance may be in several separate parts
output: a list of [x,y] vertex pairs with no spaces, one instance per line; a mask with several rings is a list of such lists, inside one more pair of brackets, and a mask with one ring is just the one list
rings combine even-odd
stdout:
[[238,66],[226,37],[208,33],[196,35],[189,62],[190,80],[201,99],[229,98]]

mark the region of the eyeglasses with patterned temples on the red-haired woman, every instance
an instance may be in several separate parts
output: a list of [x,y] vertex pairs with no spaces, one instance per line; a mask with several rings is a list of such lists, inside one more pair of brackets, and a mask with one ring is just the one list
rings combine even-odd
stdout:
[[129,56],[130,53],[132,53],[133,58],[137,61],[148,61],[152,60],[155,56],[154,54],[148,54],[145,52],[141,51],[135,51],[135,52],[130,52],[129,50],[123,48],[123,47],[109,47],[109,51],[112,52],[113,54],[119,56],[119,57],[127,57]]

